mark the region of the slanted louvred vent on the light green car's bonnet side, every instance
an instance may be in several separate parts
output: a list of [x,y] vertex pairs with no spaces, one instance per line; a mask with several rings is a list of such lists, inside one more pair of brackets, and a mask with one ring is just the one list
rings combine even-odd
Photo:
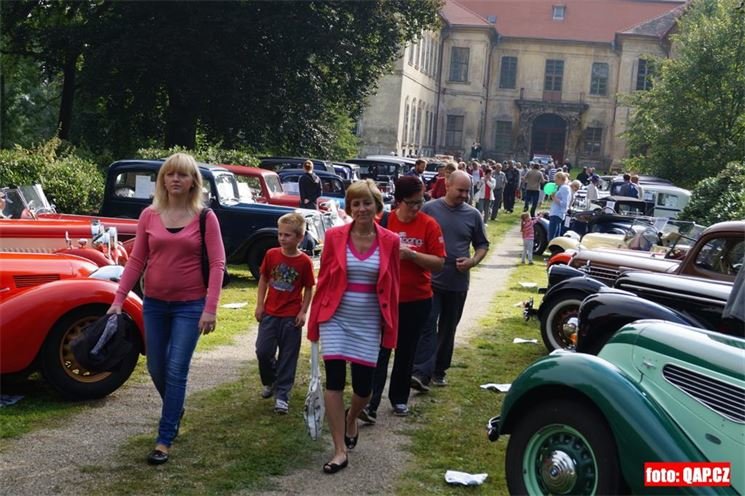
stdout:
[[745,389],[677,365],[665,365],[662,375],[720,415],[734,422],[745,423]]

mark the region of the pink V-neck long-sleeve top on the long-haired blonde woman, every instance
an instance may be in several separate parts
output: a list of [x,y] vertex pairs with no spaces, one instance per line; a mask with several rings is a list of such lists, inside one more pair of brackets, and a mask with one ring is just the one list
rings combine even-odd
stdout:
[[208,288],[204,287],[202,280],[199,214],[181,231],[172,233],[152,207],[143,210],[137,222],[134,248],[124,267],[114,304],[124,302],[147,263],[145,292],[148,297],[164,301],[190,301],[204,298],[206,293],[204,311],[216,313],[225,267],[225,248],[214,212],[207,214],[204,239],[210,261]]

